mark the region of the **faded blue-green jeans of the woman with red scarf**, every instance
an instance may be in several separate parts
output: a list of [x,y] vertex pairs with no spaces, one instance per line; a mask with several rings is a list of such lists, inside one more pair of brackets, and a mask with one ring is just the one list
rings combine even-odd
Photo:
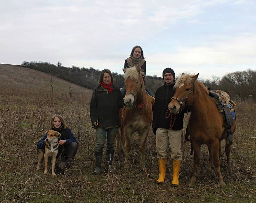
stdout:
[[107,137],[107,149],[106,154],[114,154],[116,143],[116,130],[113,128],[96,128],[96,144],[95,144],[95,156],[101,157],[104,148],[105,140]]

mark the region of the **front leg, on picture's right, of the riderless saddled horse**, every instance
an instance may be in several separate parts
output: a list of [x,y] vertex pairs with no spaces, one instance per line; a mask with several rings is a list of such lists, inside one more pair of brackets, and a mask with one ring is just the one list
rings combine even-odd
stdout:
[[219,158],[220,141],[218,139],[215,139],[212,142],[210,148],[211,148],[211,153],[213,157],[213,165],[217,171],[219,184],[220,186],[225,186],[225,183],[223,182],[223,177],[220,173],[220,158]]

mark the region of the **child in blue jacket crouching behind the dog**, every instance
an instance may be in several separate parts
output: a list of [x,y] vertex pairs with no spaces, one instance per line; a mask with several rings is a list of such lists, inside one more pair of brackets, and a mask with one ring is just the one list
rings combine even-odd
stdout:
[[[55,130],[61,134],[59,137],[59,151],[57,158],[61,152],[61,167],[70,167],[72,160],[75,158],[76,151],[78,148],[77,140],[74,134],[71,132],[64,119],[60,115],[54,115],[51,121],[51,130]],[[37,149],[45,149],[47,134],[44,134],[42,139],[37,143]],[[67,161],[66,161],[67,160]]]

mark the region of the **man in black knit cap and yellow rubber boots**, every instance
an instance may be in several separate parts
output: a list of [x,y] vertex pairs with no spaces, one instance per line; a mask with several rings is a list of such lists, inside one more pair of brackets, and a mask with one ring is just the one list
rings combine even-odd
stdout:
[[175,73],[171,68],[163,71],[164,85],[156,90],[155,104],[153,107],[153,132],[156,134],[156,153],[158,158],[159,178],[156,183],[163,184],[166,171],[166,149],[168,140],[172,150],[172,186],[178,186],[181,154],[181,129],[183,127],[183,113],[171,115],[165,119],[168,104],[175,94],[174,79]]

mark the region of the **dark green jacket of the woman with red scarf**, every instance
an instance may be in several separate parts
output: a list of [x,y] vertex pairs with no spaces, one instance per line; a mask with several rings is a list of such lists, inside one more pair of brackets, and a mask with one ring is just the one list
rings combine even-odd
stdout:
[[124,107],[121,91],[112,84],[113,91],[109,93],[101,85],[92,92],[90,116],[92,126],[99,122],[100,128],[120,127],[119,108]]

